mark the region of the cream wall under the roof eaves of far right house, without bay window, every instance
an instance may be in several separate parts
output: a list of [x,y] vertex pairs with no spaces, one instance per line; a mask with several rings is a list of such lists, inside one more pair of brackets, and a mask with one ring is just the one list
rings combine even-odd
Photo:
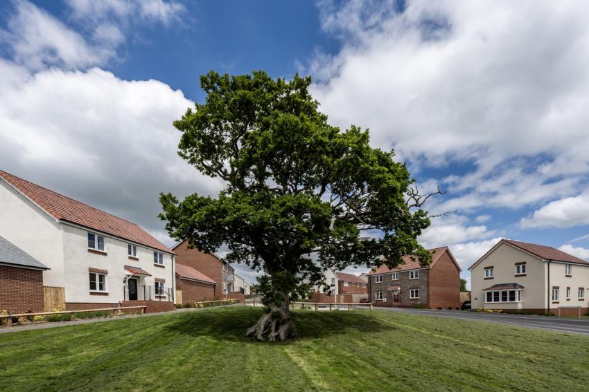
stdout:
[[[547,264],[547,263],[546,263]],[[559,306],[589,306],[588,290],[589,288],[589,266],[572,264],[572,277],[565,277],[565,263],[550,263],[550,310],[555,312]],[[552,303],[552,286],[559,286],[559,304]],[[566,288],[570,287],[570,300],[566,300]],[[577,290],[585,289],[585,299],[579,301]],[[548,290],[546,290],[548,292]]]

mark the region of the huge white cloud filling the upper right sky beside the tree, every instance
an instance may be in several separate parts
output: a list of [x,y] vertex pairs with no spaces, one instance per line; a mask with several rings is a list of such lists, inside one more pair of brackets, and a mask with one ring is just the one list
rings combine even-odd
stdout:
[[[331,122],[371,129],[414,169],[473,162],[439,212],[519,208],[578,194],[589,174],[589,3],[322,2],[342,38],[313,95]],[[565,176],[563,178],[563,176]]]

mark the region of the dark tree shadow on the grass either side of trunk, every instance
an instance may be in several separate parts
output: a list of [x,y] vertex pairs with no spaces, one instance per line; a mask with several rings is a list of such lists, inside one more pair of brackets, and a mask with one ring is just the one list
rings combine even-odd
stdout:
[[[261,308],[232,306],[184,312],[177,322],[166,326],[170,333],[206,336],[220,340],[248,341],[245,331],[263,314]],[[373,317],[367,310],[333,310],[292,312],[297,339],[315,339],[347,333],[382,333],[396,329],[395,326]]]

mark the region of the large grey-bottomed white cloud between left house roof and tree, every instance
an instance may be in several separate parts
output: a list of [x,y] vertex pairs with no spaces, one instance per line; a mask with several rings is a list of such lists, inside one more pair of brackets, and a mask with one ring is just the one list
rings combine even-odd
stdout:
[[6,86],[0,89],[1,169],[139,223],[159,238],[159,192],[184,197],[222,187],[177,156],[180,132],[172,122],[193,106],[182,91],[98,68],[28,77],[12,68],[15,81],[0,76]]

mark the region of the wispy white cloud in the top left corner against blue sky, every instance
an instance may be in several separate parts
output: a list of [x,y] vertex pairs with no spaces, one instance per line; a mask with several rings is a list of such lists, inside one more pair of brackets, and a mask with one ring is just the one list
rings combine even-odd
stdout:
[[33,70],[47,64],[85,68],[104,64],[115,55],[110,48],[90,46],[82,35],[27,1],[15,3],[7,25],[8,30],[0,31],[0,42],[15,62]]

